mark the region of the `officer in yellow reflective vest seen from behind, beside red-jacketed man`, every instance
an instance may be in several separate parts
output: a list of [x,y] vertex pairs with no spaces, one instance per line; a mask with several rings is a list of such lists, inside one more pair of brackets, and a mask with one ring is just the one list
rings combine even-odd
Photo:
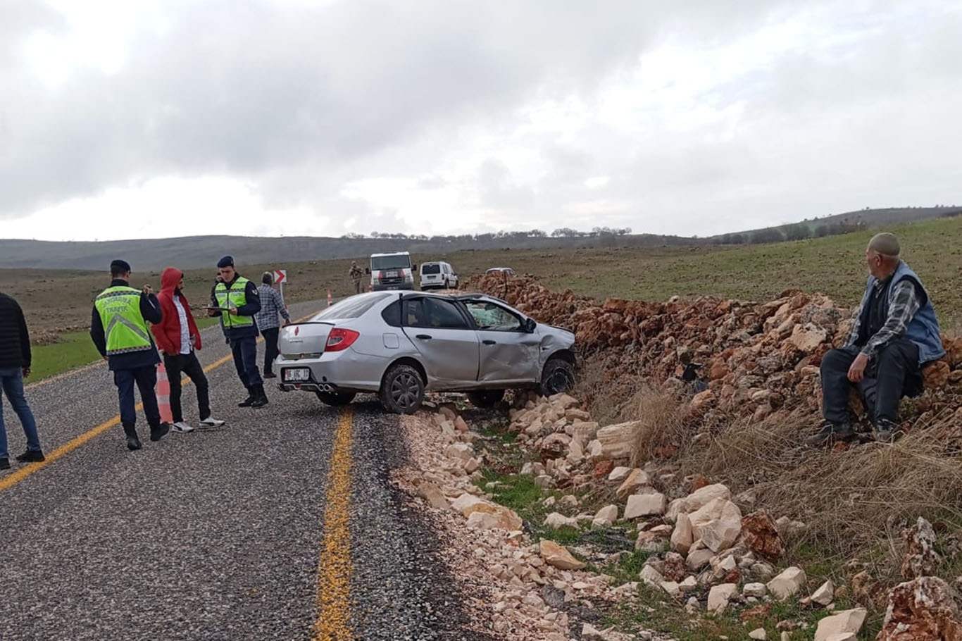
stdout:
[[127,436],[127,449],[140,449],[137,435],[137,408],[134,385],[140,391],[143,413],[150,425],[150,440],[160,441],[170,431],[170,423],[161,423],[157,406],[157,354],[148,322],[160,322],[161,304],[150,288],[137,290],[130,286],[130,264],[111,263],[111,286],[93,301],[90,316],[90,338],[97,351],[114,372],[114,385],[120,399],[120,423]]

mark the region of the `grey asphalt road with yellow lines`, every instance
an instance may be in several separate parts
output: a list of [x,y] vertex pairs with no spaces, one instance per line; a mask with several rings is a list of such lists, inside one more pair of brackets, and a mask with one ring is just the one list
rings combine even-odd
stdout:
[[[238,408],[219,337],[204,330],[200,359],[228,424],[151,443],[139,413],[136,452],[106,365],[28,388],[49,460],[0,473],[0,639],[484,638],[462,631],[435,534],[388,483],[396,417],[270,387],[265,408]],[[196,422],[190,385],[184,407]]]

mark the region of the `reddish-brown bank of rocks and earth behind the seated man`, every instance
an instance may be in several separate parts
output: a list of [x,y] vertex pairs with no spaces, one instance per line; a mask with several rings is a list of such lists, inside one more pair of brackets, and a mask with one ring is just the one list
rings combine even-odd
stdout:
[[[798,291],[751,303],[701,296],[667,302],[608,299],[601,304],[570,291],[551,292],[532,276],[482,276],[468,289],[496,295],[537,321],[566,327],[583,358],[603,363],[606,382],[618,386],[644,373],[671,387],[682,385],[691,364],[707,389],[692,399],[699,416],[715,411],[763,420],[820,403],[819,365],[826,351],[848,338],[851,310],[825,295]],[[944,336],[948,355],[926,368],[925,393],[915,403],[925,420],[954,411],[962,398],[962,338]],[[591,399],[589,399],[591,400]]]

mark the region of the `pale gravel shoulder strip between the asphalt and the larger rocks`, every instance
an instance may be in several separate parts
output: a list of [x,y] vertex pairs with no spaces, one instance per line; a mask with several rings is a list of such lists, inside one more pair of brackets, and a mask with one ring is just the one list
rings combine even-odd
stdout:
[[[475,484],[484,462],[473,445],[478,435],[452,406],[442,406],[429,420],[405,417],[402,427],[412,465],[395,470],[393,479],[434,515],[448,542],[446,562],[464,582],[460,587],[479,630],[519,641],[567,640],[572,627],[584,639],[652,638],[583,621],[594,600],[613,602],[636,593],[585,572],[585,563],[564,546],[546,539],[534,543],[517,513],[485,495]],[[575,611],[577,622],[570,614]]]

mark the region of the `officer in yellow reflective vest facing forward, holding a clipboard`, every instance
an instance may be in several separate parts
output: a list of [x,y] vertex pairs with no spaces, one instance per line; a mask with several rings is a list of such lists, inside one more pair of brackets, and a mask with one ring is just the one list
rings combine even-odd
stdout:
[[254,315],[261,311],[261,296],[257,285],[247,280],[234,267],[234,258],[224,256],[217,262],[220,282],[211,296],[211,316],[219,316],[224,323],[227,341],[234,352],[234,367],[241,383],[247,388],[247,397],[238,407],[264,407],[267,395],[264,379],[257,367],[257,321]]

